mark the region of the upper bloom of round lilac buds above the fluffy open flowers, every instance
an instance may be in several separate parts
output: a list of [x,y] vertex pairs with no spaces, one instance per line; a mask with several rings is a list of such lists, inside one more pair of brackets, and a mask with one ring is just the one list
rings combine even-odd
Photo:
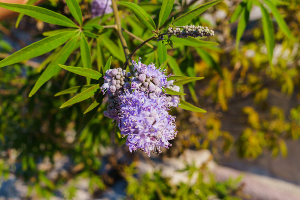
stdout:
[[141,63],[141,58],[138,63],[133,60],[132,63],[136,72],[132,78],[131,88],[159,95],[162,92],[161,87],[167,84],[165,70],[157,69],[153,63],[145,65]]

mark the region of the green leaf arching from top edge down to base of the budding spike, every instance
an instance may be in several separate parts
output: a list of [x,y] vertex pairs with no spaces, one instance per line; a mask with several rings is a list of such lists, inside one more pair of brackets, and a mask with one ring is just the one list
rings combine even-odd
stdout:
[[117,3],[129,8],[135,14],[137,19],[139,19],[139,21],[147,28],[151,30],[156,30],[156,25],[153,19],[150,17],[150,15],[148,15],[148,13],[143,8],[141,8],[135,3],[125,2],[125,1],[119,1]]

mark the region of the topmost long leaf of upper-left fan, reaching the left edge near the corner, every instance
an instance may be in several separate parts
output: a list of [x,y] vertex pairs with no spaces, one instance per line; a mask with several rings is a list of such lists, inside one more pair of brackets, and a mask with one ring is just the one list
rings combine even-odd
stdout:
[[28,15],[30,17],[53,25],[78,27],[74,22],[72,22],[72,20],[70,20],[66,16],[39,6],[0,2],[0,7]]

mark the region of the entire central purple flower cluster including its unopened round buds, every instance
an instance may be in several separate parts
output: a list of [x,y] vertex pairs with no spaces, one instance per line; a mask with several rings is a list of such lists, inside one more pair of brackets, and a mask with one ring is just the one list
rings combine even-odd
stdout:
[[169,141],[177,134],[175,117],[168,111],[177,106],[179,97],[166,95],[162,89],[179,91],[179,87],[173,85],[174,81],[167,81],[165,71],[154,64],[145,65],[141,58],[138,63],[132,62],[132,79],[121,68],[106,71],[101,87],[103,93],[108,93],[104,115],[117,122],[122,137],[127,136],[130,152],[141,149],[150,156],[151,151],[160,153],[161,148],[169,149]]

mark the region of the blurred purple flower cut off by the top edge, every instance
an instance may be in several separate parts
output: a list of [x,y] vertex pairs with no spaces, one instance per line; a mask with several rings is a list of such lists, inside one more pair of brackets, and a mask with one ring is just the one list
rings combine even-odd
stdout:
[[112,13],[111,0],[93,0],[91,3],[92,17]]

